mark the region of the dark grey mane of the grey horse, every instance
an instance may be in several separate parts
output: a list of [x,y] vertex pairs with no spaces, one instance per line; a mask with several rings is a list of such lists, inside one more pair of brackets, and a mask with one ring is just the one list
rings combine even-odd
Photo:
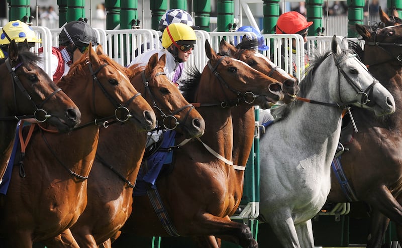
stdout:
[[[347,58],[349,52],[352,52],[350,50],[342,50],[341,55],[338,56],[339,61],[343,61]],[[306,97],[307,93],[310,91],[313,85],[313,78],[314,78],[314,73],[316,71],[316,68],[318,68],[323,61],[328,57],[332,55],[332,51],[326,51],[324,53],[321,53],[320,51],[316,51],[314,55],[314,59],[311,60],[309,67],[306,69],[306,76],[305,78],[300,82],[299,84],[299,97]],[[290,110],[293,109],[296,106],[301,105],[303,102],[302,101],[292,101],[289,104],[282,104],[279,105],[278,107],[274,107],[271,109],[271,114],[275,118],[276,121],[280,121],[282,119],[285,119],[289,113]]]

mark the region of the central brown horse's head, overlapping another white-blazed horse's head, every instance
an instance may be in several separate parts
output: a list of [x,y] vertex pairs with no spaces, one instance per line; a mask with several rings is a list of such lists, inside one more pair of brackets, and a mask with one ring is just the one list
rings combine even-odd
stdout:
[[[223,47],[223,49],[228,48]],[[222,102],[222,105],[237,105],[246,102],[265,109],[283,99],[282,83],[251,68],[243,61],[228,55],[218,55],[211,48],[208,40],[205,43],[205,50],[210,60],[204,69],[204,72],[207,70],[207,73],[203,73],[202,83],[199,84],[197,100],[213,98],[208,100],[218,100]],[[211,88],[216,88],[216,90],[211,92]],[[233,97],[238,98],[230,99]]]

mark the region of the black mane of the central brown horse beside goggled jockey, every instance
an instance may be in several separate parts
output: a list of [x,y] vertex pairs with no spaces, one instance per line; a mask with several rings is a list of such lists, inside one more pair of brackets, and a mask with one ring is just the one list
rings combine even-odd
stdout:
[[186,80],[180,80],[178,83],[180,90],[183,92],[184,98],[188,102],[195,102],[195,92],[198,89],[201,80],[201,73],[195,67],[188,67],[186,69]]

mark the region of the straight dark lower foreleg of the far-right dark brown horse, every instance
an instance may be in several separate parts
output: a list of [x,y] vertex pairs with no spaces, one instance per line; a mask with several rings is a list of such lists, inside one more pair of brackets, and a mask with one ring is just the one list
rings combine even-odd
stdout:
[[373,209],[371,214],[370,233],[367,237],[367,248],[381,247],[389,219],[377,209]]

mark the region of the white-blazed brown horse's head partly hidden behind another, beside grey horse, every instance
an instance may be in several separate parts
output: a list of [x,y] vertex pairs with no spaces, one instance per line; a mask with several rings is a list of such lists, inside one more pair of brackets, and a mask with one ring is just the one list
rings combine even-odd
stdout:
[[[219,46],[219,53],[230,54],[233,58],[244,61],[246,64],[265,75],[272,77],[283,84],[283,102],[289,103],[294,100],[299,87],[297,78],[286,73],[279,66],[275,65],[269,58],[259,53],[258,40],[243,36],[242,41],[235,46],[222,39]],[[225,50],[227,49],[227,50]]]

